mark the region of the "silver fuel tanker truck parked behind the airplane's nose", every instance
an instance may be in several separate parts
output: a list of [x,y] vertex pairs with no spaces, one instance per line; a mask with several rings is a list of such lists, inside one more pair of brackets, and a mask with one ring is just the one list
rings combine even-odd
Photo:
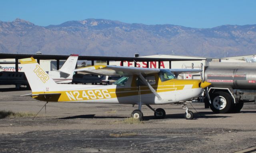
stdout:
[[204,103],[213,112],[240,112],[245,102],[256,101],[256,63],[209,62],[203,77],[212,83]]

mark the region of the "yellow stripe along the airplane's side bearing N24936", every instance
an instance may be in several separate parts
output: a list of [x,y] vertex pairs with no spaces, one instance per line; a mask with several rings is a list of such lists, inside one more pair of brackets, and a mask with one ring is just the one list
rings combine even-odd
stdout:
[[[174,83],[175,82],[175,83]],[[170,92],[175,90],[183,90],[186,85],[192,85],[192,88],[199,88],[199,81],[181,81],[174,80],[175,85],[166,83],[166,85],[152,86],[156,92]],[[182,82],[184,84],[182,84]],[[118,98],[126,96],[136,96],[138,95],[138,87],[130,88],[110,88],[110,89],[92,89],[92,90],[69,90],[69,91],[53,91],[53,92],[32,92],[32,94],[50,94],[50,93],[60,93],[58,102],[68,102],[68,101],[88,101],[88,100],[100,100],[108,98]],[[151,94],[152,91],[147,86],[140,86],[140,94]],[[45,101],[44,96],[33,96],[33,98]],[[49,99],[50,101],[51,99]]]

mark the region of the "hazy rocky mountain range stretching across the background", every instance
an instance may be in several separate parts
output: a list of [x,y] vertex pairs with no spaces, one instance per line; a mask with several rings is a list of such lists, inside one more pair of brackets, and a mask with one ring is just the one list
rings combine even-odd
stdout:
[[127,24],[104,19],[37,26],[16,19],[0,21],[0,53],[133,57],[190,55],[231,57],[256,52],[256,25],[192,28]]

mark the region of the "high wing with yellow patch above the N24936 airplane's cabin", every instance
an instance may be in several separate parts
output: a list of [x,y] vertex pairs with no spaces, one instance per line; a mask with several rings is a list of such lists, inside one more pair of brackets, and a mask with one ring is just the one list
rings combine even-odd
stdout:
[[129,76],[129,75],[146,75],[159,73],[160,69],[142,68],[142,67],[122,67],[112,65],[94,65],[90,67],[83,67],[76,69],[76,71],[82,71],[93,75],[118,75],[118,76]]

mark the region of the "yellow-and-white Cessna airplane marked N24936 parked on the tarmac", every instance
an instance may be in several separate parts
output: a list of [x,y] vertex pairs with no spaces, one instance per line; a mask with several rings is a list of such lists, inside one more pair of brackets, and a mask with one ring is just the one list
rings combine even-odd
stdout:
[[[197,98],[203,88],[210,85],[201,80],[178,80],[169,69],[149,69],[121,66],[91,66],[81,69],[95,75],[122,75],[112,85],[56,84],[45,73],[33,57],[20,59],[32,89],[28,94],[46,102],[91,102],[109,104],[138,104],[132,117],[142,120],[142,105],[154,111],[156,118],[164,118],[162,108],[153,109],[150,105],[171,104]],[[186,106],[186,119],[193,119],[193,113]]]

